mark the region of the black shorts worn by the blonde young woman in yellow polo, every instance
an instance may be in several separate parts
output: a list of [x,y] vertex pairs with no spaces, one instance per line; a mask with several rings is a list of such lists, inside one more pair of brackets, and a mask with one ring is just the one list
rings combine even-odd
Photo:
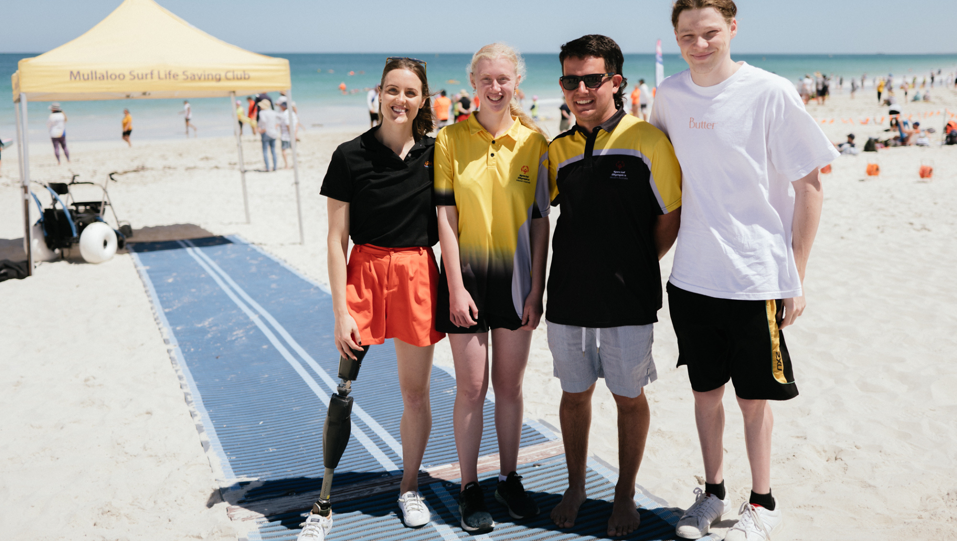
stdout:
[[438,303],[435,304],[435,330],[446,334],[474,334],[488,332],[493,328],[517,330],[522,327],[522,318],[515,313],[512,304],[511,289],[503,290],[496,284],[484,283],[479,292],[478,283],[467,283],[466,289],[472,300],[479,306],[479,317],[472,327],[456,327],[449,317],[449,281],[445,274],[445,263],[439,261],[441,272],[438,275]]

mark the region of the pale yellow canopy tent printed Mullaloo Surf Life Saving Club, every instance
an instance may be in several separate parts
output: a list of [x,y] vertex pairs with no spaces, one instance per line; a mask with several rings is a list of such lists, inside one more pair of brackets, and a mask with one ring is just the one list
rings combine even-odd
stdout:
[[[19,61],[12,76],[13,101],[19,102],[17,141],[24,191],[24,223],[30,253],[29,149],[26,145],[27,102],[89,101],[162,98],[230,97],[287,91],[292,100],[289,60],[258,55],[206,34],[153,0],[123,0],[120,7],[86,34],[56,49]],[[249,202],[242,147],[234,122],[246,220]],[[299,201],[299,163],[296,138],[291,137],[296,202]]]

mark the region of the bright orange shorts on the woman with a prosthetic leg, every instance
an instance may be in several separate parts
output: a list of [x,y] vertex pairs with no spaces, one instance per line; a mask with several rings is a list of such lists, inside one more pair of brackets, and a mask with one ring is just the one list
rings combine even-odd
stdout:
[[432,248],[352,247],[346,265],[345,304],[359,326],[362,345],[387,338],[430,346],[445,333],[435,330],[438,265]]

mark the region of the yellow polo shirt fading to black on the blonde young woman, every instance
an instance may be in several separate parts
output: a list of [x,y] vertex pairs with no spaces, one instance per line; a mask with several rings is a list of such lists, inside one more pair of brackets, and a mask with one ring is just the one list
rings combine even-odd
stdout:
[[518,120],[497,139],[475,114],[438,132],[435,204],[456,206],[462,281],[480,312],[522,318],[529,226],[549,208],[547,150],[545,137]]

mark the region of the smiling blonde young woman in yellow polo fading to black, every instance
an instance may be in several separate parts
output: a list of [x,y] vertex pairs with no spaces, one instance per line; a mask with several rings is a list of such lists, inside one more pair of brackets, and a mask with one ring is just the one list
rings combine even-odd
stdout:
[[496,499],[513,518],[538,514],[516,473],[522,437],[522,381],[532,330],[542,317],[548,244],[548,144],[514,100],[524,61],[511,47],[486,45],[469,80],[481,103],[435,141],[435,203],[442,247],[436,330],[448,333],[456,365],[455,433],[462,529],[495,527],[477,462],[489,384],[501,471]]

